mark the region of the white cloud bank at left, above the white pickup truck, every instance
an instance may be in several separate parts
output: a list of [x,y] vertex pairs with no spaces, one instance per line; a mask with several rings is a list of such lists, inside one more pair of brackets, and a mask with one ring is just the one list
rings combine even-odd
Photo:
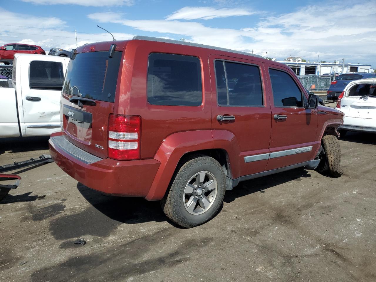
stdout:
[[[55,17],[34,17],[17,14],[0,8],[4,21],[1,29],[0,45],[7,43],[24,43],[41,46],[47,53],[51,48],[61,48],[70,51],[76,48],[76,38],[73,28],[67,29],[65,21]],[[33,23],[33,27],[30,26]],[[112,36],[101,31],[97,34],[81,33],[77,30],[77,45],[97,41],[112,40]],[[133,38],[133,34],[112,33],[117,40]]]

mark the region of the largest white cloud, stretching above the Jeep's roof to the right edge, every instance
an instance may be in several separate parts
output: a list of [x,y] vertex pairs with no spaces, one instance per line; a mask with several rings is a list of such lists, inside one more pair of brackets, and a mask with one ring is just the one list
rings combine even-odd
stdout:
[[[346,58],[346,62],[354,64],[376,65],[376,27],[373,25],[376,5],[373,3],[374,0],[346,6],[321,3],[287,14],[265,17],[255,26],[244,26],[242,29],[222,29],[194,21],[174,20],[194,17],[190,13],[180,13],[182,9],[168,16],[167,20],[128,20],[118,13],[96,13],[89,15],[89,18],[153,32],[152,36],[155,36],[155,32],[175,39],[183,36],[190,42],[246,52],[254,50],[262,56],[279,59],[292,55],[312,61],[319,55],[320,61]],[[214,14],[197,13],[195,18],[205,15],[210,17]]]

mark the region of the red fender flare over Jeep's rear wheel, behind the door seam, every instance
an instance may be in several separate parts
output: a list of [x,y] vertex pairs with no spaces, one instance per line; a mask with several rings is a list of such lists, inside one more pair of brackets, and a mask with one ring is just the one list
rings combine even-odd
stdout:
[[185,153],[207,149],[213,149],[213,136],[209,129],[177,132],[165,138],[154,156],[161,165],[146,199],[161,200],[164,197],[175,168]]

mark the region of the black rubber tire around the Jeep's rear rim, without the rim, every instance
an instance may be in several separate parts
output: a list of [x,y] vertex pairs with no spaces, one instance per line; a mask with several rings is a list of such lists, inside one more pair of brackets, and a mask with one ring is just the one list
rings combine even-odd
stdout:
[[[174,174],[170,182],[170,187],[161,200],[161,207],[165,215],[174,223],[190,228],[205,223],[217,213],[226,191],[226,179],[221,165],[214,158],[206,155],[191,156],[191,158],[183,160],[180,164],[182,165]],[[186,208],[185,189],[195,175],[204,171],[214,176],[214,180],[217,182],[216,194],[212,201],[210,201],[210,205],[206,211],[204,209],[201,214],[191,214],[188,212],[188,208]],[[202,186],[204,187],[204,185]],[[204,198],[205,193],[203,193]],[[212,192],[209,194],[207,195],[208,197],[213,195]],[[199,203],[199,200],[200,198],[197,199],[197,203]],[[200,209],[198,205],[197,208]]]

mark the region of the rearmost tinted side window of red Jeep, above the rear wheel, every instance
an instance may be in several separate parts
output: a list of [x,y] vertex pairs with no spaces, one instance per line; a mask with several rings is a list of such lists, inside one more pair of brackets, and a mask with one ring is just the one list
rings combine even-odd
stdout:
[[147,99],[152,105],[200,106],[202,104],[199,58],[152,53],[149,56]]

